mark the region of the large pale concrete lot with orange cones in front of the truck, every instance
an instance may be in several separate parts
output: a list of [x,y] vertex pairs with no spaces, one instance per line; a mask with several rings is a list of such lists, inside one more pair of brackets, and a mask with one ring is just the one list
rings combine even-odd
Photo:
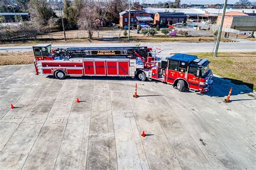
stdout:
[[256,167],[247,86],[216,77],[200,96],[131,78],[57,80],[36,76],[33,65],[1,66],[0,75],[0,169]]

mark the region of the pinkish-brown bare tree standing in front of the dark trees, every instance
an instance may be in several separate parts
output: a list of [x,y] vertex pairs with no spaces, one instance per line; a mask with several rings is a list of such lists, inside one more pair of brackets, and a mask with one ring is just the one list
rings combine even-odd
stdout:
[[87,4],[81,11],[78,18],[78,27],[80,30],[87,30],[89,39],[92,39],[93,30],[96,28],[95,18],[97,13],[95,6]]

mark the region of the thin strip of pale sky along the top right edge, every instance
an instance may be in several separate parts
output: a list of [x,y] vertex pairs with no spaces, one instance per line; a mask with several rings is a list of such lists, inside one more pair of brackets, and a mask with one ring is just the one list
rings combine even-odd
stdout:
[[[158,2],[166,2],[166,1],[172,1],[174,0],[140,0],[140,3],[158,3]],[[239,0],[228,0],[228,4],[234,4],[235,2],[238,2]],[[251,0],[251,2],[256,2],[256,0]],[[181,0],[181,4],[217,4],[217,3],[224,3],[224,0]]]

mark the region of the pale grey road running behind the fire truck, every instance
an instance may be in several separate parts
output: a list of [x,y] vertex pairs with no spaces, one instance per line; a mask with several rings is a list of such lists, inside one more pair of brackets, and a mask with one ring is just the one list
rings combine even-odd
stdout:
[[[138,44],[138,43],[136,43]],[[52,44],[52,47],[96,47],[96,46],[134,46],[134,43],[104,43],[104,44]],[[170,53],[186,52],[212,52],[214,43],[140,43],[140,46],[159,47],[163,55]],[[1,52],[29,52],[32,46],[3,46]],[[246,52],[256,51],[256,42],[243,40],[242,42],[220,43],[219,52]]]

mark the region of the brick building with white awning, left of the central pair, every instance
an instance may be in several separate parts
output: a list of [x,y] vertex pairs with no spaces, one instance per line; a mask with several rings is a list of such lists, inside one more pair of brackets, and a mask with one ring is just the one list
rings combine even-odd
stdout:
[[[137,17],[145,17],[145,18],[148,18],[148,21],[144,21],[144,22],[148,22],[150,23],[153,19],[150,17],[151,15],[145,11],[139,11],[139,10],[131,10],[131,16],[130,16],[130,24],[131,25],[134,25],[134,26],[137,26],[138,24],[138,19]],[[144,19],[145,19],[144,18]],[[150,19],[151,18],[151,19]],[[129,11],[123,11],[123,12],[120,12],[119,13],[119,24],[120,26],[124,27],[125,25],[128,26],[129,24]]]

